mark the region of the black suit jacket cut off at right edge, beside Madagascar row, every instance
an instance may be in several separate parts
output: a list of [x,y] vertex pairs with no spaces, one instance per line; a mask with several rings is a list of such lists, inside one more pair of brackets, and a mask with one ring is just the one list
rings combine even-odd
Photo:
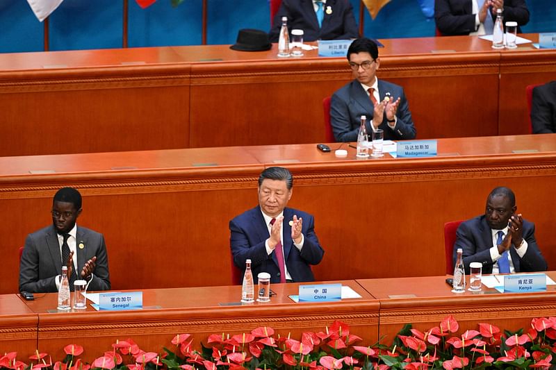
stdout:
[[533,133],[556,133],[556,81],[533,89],[531,124]]

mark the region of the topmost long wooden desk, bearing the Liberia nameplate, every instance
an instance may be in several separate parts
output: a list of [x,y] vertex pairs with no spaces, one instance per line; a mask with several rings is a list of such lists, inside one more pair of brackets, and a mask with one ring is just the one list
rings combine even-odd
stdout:
[[[420,139],[526,133],[525,85],[556,72],[556,51],[530,44],[380,41],[377,75],[404,87]],[[350,81],[347,62],[281,60],[276,48],[0,54],[0,155],[322,142],[322,99]]]

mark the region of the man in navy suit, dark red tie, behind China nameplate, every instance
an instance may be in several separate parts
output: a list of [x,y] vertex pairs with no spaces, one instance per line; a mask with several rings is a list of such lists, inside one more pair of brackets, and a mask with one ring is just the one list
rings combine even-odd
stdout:
[[255,282],[260,272],[271,283],[313,281],[311,264],[318,264],[322,250],[313,216],[286,208],[293,194],[288,169],[269,167],[259,176],[259,205],[230,221],[230,246],[234,264],[245,271],[251,260]]

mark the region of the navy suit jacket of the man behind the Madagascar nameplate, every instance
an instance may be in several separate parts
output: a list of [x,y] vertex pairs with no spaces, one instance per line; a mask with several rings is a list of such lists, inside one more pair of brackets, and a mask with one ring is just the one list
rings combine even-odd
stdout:
[[[401,98],[398,111],[395,113],[398,122],[392,130],[386,121],[386,114],[382,119],[379,128],[384,130],[385,140],[411,140],[415,138],[416,130],[409,112],[409,104],[405,99],[404,90],[401,86],[394,85],[386,81],[378,81],[378,91],[380,101],[389,92],[393,99]],[[367,133],[373,132],[370,128],[370,120],[373,119],[373,102],[359,81],[354,80],[340,90],[334,92],[330,101],[330,124],[334,139],[337,142],[357,141],[359,126],[361,126],[361,116],[367,116]]]

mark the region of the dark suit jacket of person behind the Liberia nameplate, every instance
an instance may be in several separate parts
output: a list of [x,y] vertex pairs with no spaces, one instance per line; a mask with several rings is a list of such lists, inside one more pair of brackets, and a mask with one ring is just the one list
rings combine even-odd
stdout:
[[332,13],[325,11],[320,28],[312,0],[282,0],[268,34],[270,42],[278,42],[282,17],[288,17],[290,33],[293,29],[304,31],[304,41],[347,40],[359,36],[350,0],[327,0],[325,10],[328,7]]

